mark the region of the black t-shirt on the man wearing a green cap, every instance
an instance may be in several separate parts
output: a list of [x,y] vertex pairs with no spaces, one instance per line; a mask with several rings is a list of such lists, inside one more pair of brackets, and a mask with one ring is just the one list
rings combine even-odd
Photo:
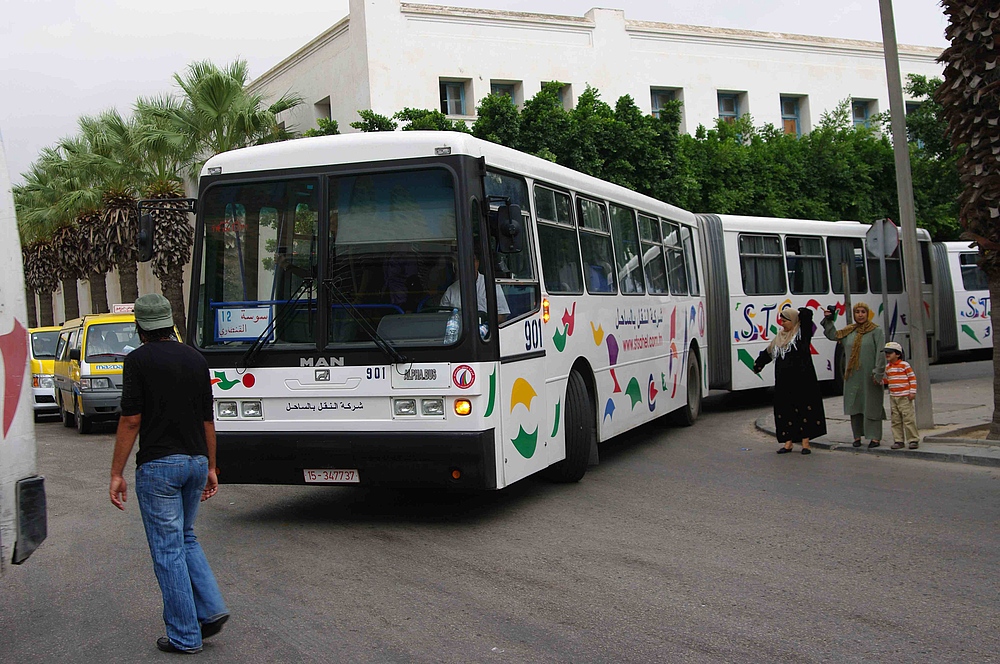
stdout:
[[214,419],[208,363],[176,341],[145,343],[125,356],[122,415],[142,415],[136,465],[171,454],[208,455]]

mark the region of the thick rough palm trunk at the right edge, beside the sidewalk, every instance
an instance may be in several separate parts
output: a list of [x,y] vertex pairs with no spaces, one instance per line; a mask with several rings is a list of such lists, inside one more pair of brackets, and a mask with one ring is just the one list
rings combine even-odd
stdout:
[[[997,67],[996,2],[943,0],[951,42],[940,60],[946,64],[944,84],[934,98],[948,122],[952,146],[961,154],[959,221],[962,237],[979,245],[979,266],[986,272],[993,302],[1000,298],[1000,67]],[[992,26],[992,30],[990,29]],[[1000,312],[991,311],[994,330]],[[993,335],[993,357],[1000,341]],[[1000,440],[1000,374],[993,375],[993,422],[988,436]]]

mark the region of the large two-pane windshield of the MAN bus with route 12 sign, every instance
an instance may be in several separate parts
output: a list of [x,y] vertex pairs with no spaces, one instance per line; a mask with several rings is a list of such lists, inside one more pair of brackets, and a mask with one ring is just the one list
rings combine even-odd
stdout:
[[461,317],[452,313],[461,308],[461,289],[449,291],[458,275],[450,171],[220,184],[200,205],[200,346],[458,340]]

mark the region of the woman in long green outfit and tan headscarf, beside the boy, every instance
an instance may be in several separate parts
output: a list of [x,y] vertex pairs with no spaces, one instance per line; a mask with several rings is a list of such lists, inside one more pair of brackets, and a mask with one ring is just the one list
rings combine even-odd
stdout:
[[851,416],[854,447],[861,438],[868,447],[882,443],[882,420],[885,406],[882,379],[885,377],[885,333],[872,322],[872,310],[864,302],[854,305],[854,323],[838,330],[833,323],[833,307],[823,317],[823,333],[831,341],[843,344],[847,363],[844,369],[844,414]]

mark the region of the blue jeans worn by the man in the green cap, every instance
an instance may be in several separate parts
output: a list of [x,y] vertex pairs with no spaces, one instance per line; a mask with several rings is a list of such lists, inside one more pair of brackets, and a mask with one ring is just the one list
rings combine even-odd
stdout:
[[204,456],[172,454],[135,469],[135,495],[163,594],[163,622],[167,637],[183,650],[201,648],[201,624],[228,613],[194,534],[207,479]]

